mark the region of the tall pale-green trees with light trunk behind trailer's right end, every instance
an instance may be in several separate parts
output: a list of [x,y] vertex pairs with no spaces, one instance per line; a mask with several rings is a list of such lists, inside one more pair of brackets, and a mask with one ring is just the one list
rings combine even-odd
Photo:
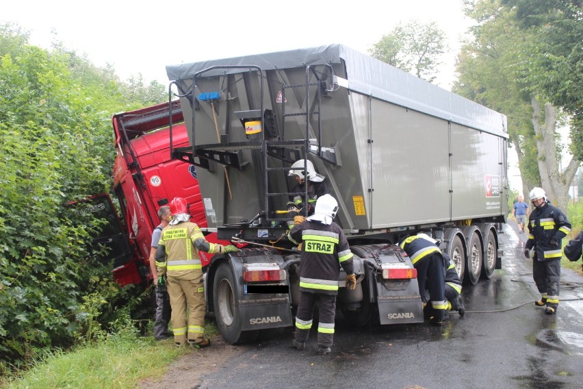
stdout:
[[[529,8],[532,3],[541,7]],[[543,186],[549,197],[566,209],[569,184],[580,164],[576,150],[581,145],[576,137],[572,138],[574,157],[561,170],[559,161],[564,145],[558,128],[568,123],[571,134],[578,133],[578,113],[570,104],[580,99],[580,94],[573,95],[567,103],[556,98],[556,91],[561,83],[573,86],[574,90],[580,88],[575,86],[580,84],[580,74],[569,76],[566,69],[572,73],[571,66],[575,69],[580,66],[578,60],[567,63],[573,60],[573,50],[581,51],[581,40],[579,27],[569,19],[572,14],[561,16],[565,23],[559,23],[557,17],[561,12],[552,8],[551,3],[560,2],[465,1],[466,14],[476,20],[476,25],[471,28],[474,39],[467,42],[458,58],[460,76],[454,91],[508,116],[508,134],[519,156],[523,192],[528,193],[535,185]],[[541,23],[543,20],[545,23]],[[566,29],[561,53],[550,47],[554,45],[552,36],[556,36],[550,32],[556,28],[555,23]],[[554,58],[553,65],[549,58]],[[562,66],[566,66],[565,71],[559,71]]]

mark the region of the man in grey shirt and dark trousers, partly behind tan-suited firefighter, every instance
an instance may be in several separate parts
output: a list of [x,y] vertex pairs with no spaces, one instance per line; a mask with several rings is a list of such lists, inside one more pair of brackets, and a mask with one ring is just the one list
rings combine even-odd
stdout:
[[172,334],[168,332],[168,323],[170,323],[170,298],[166,284],[158,285],[158,271],[156,268],[156,251],[158,242],[162,234],[162,229],[170,223],[170,207],[164,205],[158,210],[160,224],[152,232],[152,243],[150,244],[150,271],[154,280],[156,295],[156,318],[154,321],[154,338],[155,340],[164,340],[171,338]]

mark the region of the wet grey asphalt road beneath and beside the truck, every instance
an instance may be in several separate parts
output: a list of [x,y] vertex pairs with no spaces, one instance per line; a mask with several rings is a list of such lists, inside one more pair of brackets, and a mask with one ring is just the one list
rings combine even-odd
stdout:
[[583,388],[583,277],[563,269],[558,314],[546,315],[524,242],[505,225],[503,270],[465,286],[465,316],[443,327],[354,329],[339,316],[330,355],[315,352],[315,332],[305,351],[289,347],[292,329],[267,334],[195,388]]

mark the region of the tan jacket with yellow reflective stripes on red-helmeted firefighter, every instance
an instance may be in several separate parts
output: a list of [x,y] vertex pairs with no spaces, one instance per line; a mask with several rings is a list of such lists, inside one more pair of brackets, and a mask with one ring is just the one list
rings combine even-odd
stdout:
[[[156,253],[158,273],[180,279],[196,279],[203,273],[203,266],[194,242],[205,239],[196,223],[183,222],[168,225],[162,230],[158,247],[164,247],[164,255]],[[221,253],[222,244],[209,244],[209,253]]]

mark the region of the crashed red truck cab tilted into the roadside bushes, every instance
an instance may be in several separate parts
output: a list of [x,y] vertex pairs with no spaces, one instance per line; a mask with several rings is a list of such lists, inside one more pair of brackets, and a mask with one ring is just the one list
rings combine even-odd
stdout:
[[[171,139],[170,122],[174,123]],[[148,259],[152,232],[159,225],[159,207],[183,197],[190,204],[194,223],[206,227],[207,218],[194,166],[171,158],[172,145],[189,145],[180,101],[114,114],[112,127],[116,148],[112,187],[119,212],[107,193],[77,202],[77,211],[107,221],[93,239],[92,251],[106,247],[100,259],[112,264],[118,284],[146,288],[152,280]],[[209,239],[218,242],[213,236]],[[209,262],[210,258],[202,259]]]

